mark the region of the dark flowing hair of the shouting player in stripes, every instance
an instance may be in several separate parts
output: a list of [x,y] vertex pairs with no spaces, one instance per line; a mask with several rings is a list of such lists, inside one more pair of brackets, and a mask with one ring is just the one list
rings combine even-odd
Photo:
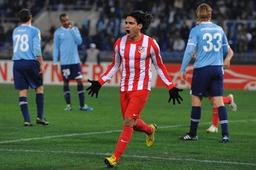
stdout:
[[153,22],[153,15],[149,12],[143,12],[142,10],[134,10],[126,15],[126,17],[133,17],[137,21],[138,24],[142,24],[142,29],[140,30],[142,33],[147,31],[150,23]]

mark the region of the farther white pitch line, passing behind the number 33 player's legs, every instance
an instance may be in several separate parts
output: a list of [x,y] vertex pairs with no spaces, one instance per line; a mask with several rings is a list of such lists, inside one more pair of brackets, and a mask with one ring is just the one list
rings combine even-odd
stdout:
[[[229,123],[245,123],[247,121],[256,121],[256,119],[245,119],[245,120],[237,120],[237,121],[228,121]],[[201,124],[211,124],[208,123],[201,123]],[[159,129],[166,129],[166,128],[173,128],[173,127],[183,127],[183,126],[189,126],[189,124],[177,124],[172,126],[160,126]],[[64,134],[64,135],[58,135],[58,136],[45,136],[45,137],[36,137],[36,138],[27,138],[27,139],[17,139],[17,140],[4,140],[0,141],[0,144],[9,144],[12,142],[22,142],[22,141],[30,141],[30,140],[41,140],[41,139],[51,139],[51,138],[59,138],[59,137],[71,137],[71,136],[88,136],[93,134],[110,134],[114,132],[121,132],[121,130],[113,130],[113,131],[102,131],[102,132],[85,132],[85,133],[75,133],[75,134]]]

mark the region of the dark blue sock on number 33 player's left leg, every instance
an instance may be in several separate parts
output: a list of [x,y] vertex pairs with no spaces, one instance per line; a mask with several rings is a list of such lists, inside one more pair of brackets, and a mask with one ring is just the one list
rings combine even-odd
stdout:
[[197,126],[201,118],[201,107],[192,107],[190,119],[190,132],[192,136],[197,135]]

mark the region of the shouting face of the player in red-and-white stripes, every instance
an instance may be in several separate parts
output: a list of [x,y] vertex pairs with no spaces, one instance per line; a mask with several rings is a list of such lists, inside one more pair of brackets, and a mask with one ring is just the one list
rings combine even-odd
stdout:
[[141,28],[142,24],[138,24],[134,17],[128,16],[126,18],[126,34],[129,39],[134,40],[139,36]]

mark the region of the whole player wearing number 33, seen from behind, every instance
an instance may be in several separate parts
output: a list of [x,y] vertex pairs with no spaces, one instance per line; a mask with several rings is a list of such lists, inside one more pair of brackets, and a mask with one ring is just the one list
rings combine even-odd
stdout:
[[221,123],[221,142],[229,142],[228,115],[223,103],[223,56],[228,54],[228,39],[223,29],[211,23],[212,9],[208,4],[201,4],[195,11],[198,26],[192,28],[189,34],[186,51],[181,65],[181,79],[186,79],[186,68],[193,52],[197,56],[190,94],[192,96],[192,111],[190,131],[180,140],[197,140],[197,127],[201,118],[203,97],[210,95],[213,104],[218,108]]

